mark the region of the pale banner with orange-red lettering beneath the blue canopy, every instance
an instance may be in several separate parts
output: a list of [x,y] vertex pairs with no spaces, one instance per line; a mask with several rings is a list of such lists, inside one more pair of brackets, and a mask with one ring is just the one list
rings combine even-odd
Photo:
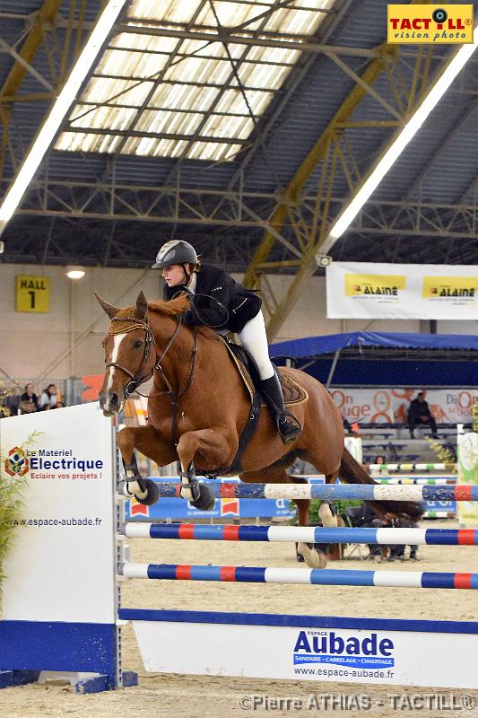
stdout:
[[[330,394],[335,405],[351,424],[406,424],[408,407],[419,389],[342,389]],[[423,390],[437,424],[469,424],[472,407],[478,401],[476,389]]]

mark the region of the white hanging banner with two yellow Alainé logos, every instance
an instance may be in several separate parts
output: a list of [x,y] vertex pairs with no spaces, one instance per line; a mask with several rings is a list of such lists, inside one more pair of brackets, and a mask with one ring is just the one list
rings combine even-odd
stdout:
[[332,262],[329,319],[476,320],[474,265]]

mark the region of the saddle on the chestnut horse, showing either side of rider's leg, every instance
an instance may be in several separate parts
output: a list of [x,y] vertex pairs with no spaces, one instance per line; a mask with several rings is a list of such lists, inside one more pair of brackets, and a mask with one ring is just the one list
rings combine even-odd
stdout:
[[[221,334],[218,335],[218,337],[222,340],[230,354],[230,358],[236,364],[238,372],[242,377],[242,381],[244,381],[246,389],[248,390],[251,403],[254,403],[256,394],[259,394],[261,398],[261,406],[265,406],[265,400],[260,393],[261,379],[259,376],[259,370],[257,369],[256,362],[252,356],[248,354],[243,346],[239,346],[239,344],[231,342],[227,337],[222,337]],[[302,402],[308,400],[309,394],[303,387],[300,386],[300,384],[297,383],[297,381],[292,379],[287,367],[278,367],[277,371],[279,372],[286,407],[291,407],[295,404],[302,404]]]

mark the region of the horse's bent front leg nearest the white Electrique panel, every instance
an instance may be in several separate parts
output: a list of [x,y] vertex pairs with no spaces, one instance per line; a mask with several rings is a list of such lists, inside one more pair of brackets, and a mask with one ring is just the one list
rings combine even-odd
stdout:
[[125,468],[126,483],[123,493],[135,496],[136,501],[151,506],[158,501],[158,488],[151,478],[143,478],[136,463],[135,449],[141,451],[158,466],[166,466],[176,460],[169,442],[153,426],[126,426],[117,434],[117,445]]

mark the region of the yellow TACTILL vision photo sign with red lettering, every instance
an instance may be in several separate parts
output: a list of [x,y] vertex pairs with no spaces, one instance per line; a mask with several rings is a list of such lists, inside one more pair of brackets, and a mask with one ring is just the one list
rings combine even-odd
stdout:
[[453,45],[473,42],[473,4],[387,5],[387,42]]

